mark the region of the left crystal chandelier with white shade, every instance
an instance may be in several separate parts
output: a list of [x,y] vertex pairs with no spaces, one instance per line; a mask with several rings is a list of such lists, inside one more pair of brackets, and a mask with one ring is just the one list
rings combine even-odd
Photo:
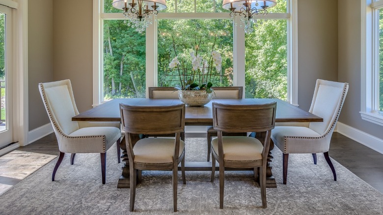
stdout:
[[153,24],[152,15],[166,9],[165,0],[113,0],[112,5],[123,11],[128,25],[139,33],[145,31],[149,24]]

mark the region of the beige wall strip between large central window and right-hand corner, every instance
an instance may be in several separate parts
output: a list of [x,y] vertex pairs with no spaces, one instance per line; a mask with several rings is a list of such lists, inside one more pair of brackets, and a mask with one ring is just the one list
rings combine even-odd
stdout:
[[304,110],[310,108],[317,79],[338,79],[338,17],[333,2],[298,0],[298,104]]

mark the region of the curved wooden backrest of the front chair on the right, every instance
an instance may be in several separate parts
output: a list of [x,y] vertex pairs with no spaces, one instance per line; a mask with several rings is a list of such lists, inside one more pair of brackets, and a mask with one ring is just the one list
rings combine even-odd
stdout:
[[224,105],[213,102],[213,127],[222,132],[265,132],[274,129],[276,102]]

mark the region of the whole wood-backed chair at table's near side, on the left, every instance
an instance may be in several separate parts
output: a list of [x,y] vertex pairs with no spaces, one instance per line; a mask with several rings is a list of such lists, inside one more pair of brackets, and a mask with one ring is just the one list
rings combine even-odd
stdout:
[[[177,211],[177,173],[181,162],[185,179],[185,142],[180,139],[185,127],[185,104],[173,106],[129,106],[120,104],[122,129],[130,168],[130,207],[134,210],[137,172],[173,170],[173,209]],[[145,119],[145,120],[142,120]],[[138,134],[173,134],[173,138],[143,138]]]

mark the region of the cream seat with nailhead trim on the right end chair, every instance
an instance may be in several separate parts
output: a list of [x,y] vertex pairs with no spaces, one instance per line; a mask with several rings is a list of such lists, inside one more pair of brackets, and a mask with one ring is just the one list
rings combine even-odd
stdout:
[[306,127],[276,126],[272,131],[274,144],[285,154],[326,152],[326,147],[321,149],[326,144],[316,141],[320,137],[321,134]]

